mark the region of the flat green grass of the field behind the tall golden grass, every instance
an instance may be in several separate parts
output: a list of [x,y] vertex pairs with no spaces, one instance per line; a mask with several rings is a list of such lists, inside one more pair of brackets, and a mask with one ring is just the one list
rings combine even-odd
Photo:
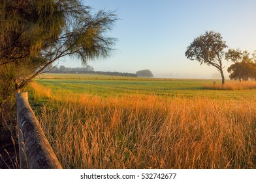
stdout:
[[[44,79],[42,79],[42,77]],[[157,95],[163,98],[255,99],[255,89],[208,90],[213,80],[141,79],[93,74],[44,74],[36,80],[54,95],[92,94],[97,96]],[[217,81],[221,82],[221,81]],[[231,81],[229,81],[231,82]]]

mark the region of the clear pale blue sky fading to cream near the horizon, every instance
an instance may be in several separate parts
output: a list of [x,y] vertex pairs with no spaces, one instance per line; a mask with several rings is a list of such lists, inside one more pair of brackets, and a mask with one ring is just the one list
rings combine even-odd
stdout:
[[[220,77],[216,68],[188,60],[185,50],[206,31],[221,33],[228,49],[256,50],[255,0],[84,0],[93,11],[116,10],[118,21],[108,34],[118,39],[107,59],[88,62],[95,71],[151,70],[155,77]],[[225,75],[231,64],[224,60]],[[81,67],[80,60],[58,65]],[[216,77],[217,76],[217,77]]]

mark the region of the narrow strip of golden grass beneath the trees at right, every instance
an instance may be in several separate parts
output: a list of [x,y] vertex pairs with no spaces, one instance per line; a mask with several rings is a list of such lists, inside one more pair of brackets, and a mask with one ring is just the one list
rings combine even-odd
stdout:
[[247,90],[247,89],[256,89],[256,81],[246,81],[246,82],[229,82],[222,85],[221,83],[217,84],[208,84],[204,85],[204,88],[210,90]]

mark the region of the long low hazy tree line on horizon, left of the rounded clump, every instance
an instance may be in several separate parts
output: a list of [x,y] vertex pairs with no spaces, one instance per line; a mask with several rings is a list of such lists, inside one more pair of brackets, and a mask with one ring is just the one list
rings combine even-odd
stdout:
[[56,66],[54,68],[48,68],[46,70],[48,73],[93,73],[93,74],[103,74],[103,75],[111,75],[111,76],[122,76],[122,77],[138,77],[135,73],[122,73],[122,72],[101,72],[94,71],[92,66],[86,66],[85,68],[66,68],[65,66]]

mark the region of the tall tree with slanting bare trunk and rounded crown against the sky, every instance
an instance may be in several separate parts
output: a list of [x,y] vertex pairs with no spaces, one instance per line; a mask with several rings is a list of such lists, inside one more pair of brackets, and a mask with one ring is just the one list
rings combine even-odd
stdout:
[[204,63],[208,66],[214,66],[221,73],[222,84],[225,83],[223,73],[223,57],[224,49],[227,47],[226,42],[222,40],[222,36],[218,32],[206,31],[204,34],[195,38],[195,40],[187,47],[185,57],[190,60],[197,60],[200,64]]

